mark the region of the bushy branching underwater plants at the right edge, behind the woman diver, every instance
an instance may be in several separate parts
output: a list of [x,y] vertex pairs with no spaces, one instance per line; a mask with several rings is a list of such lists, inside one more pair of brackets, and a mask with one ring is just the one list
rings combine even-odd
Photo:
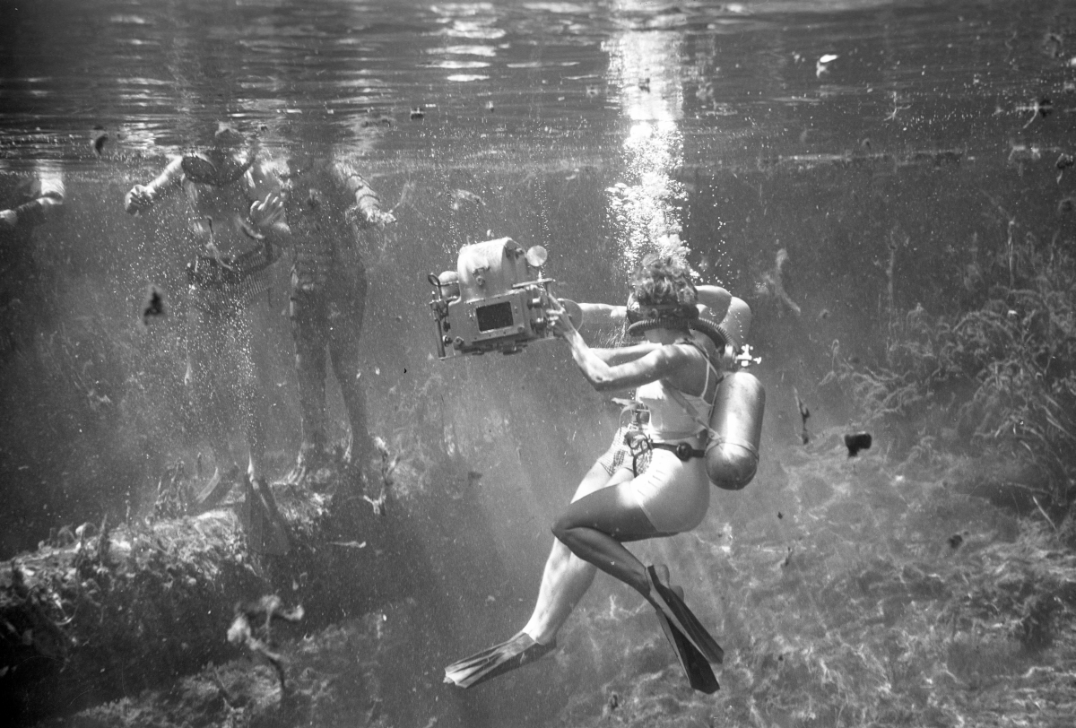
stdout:
[[1015,240],[1011,227],[962,271],[967,310],[891,315],[874,366],[835,341],[820,388],[850,391],[893,455],[930,460],[944,445],[1019,465],[1009,497],[1056,525],[1076,498],[1076,259],[1071,243]]

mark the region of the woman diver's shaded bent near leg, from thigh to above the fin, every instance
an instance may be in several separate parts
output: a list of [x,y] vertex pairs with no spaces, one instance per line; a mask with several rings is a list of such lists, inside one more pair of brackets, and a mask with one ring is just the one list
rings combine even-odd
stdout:
[[579,558],[646,597],[650,594],[647,568],[623,542],[669,534],[654,528],[636,502],[634,489],[621,483],[572,502],[553,524],[553,536]]

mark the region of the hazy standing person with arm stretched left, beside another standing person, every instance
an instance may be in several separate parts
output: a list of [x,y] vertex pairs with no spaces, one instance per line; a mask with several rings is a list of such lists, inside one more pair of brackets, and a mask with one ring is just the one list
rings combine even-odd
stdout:
[[[259,294],[269,288],[280,258],[274,243],[285,241],[284,199],[280,176],[258,158],[256,142],[230,127],[217,131],[211,147],[175,157],[152,182],[134,185],[124,204],[141,215],[181,190],[187,240],[195,247],[186,270],[184,384],[216,467],[198,497],[206,509],[238,480],[241,459],[247,483],[258,489],[265,483],[266,413],[257,376],[264,344],[254,310],[265,305],[267,297]],[[245,457],[237,457],[229,438],[237,425]],[[268,544],[270,551],[286,551],[283,539],[270,540],[277,542]]]

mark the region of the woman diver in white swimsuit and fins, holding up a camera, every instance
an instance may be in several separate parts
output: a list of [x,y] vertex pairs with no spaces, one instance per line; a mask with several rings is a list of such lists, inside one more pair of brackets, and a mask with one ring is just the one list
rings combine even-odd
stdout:
[[[721,322],[731,302],[741,311],[746,304],[722,288],[706,286],[705,299],[712,310],[698,305],[703,297],[691,282],[681,251],[645,257],[632,286],[626,309],[580,305],[584,320],[592,314],[626,316],[628,333],[646,338],[641,344],[591,348],[560,304],[549,312],[555,333],[568,342],[576,365],[596,389],[637,387],[633,402],[637,414],[633,425],[618,431],[553,525],[556,540],[530,620],[507,642],[445,668],[447,683],[470,687],[552,651],[556,632],[600,569],[654,606],[692,687],[704,693],[719,687],[710,663],[722,661],[721,647],[688,609],[682,589],[669,585],[668,569],[645,566],[624,543],[690,531],[706,515],[714,474],[711,465],[708,476],[707,440],[713,431],[707,419],[739,336],[724,324],[714,326],[700,317],[699,309]],[[756,414],[761,416],[761,409]],[[722,438],[716,440],[721,444]],[[742,487],[753,475],[758,436],[753,445],[745,447],[737,441],[734,447],[746,454],[732,458],[740,472],[717,483],[730,489]],[[744,480],[746,470],[750,474]]]

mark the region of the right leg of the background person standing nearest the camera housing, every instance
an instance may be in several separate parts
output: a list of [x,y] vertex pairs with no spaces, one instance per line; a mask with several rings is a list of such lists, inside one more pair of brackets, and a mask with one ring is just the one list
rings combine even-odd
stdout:
[[329,277],[326,302],[329,359],[351,428],[348,455],[360,467],[365,467],[373,454],[366,415],[366,388],[359,376],[366,286],[366,270],[360,265],[353,270],[338,270]]

